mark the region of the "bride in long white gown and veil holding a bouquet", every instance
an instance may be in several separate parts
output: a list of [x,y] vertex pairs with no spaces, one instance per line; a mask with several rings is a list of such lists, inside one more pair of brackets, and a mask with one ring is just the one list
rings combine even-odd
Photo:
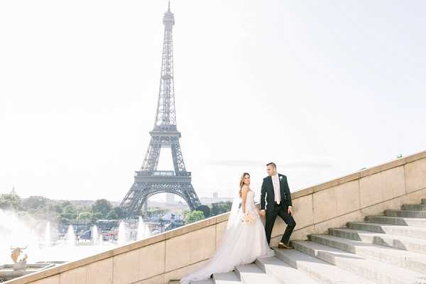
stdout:
[[219,248],[204,267],[186,275],[180,283],[204,280],[210,278],[213,273],[233,271],[235,266],[252,263],[258,257],[274,255],[266,241],[265,229],[254,205],[254,192],[249,185],[250,175],[244,173],[241,176],[239,192],[232,202],[231,214]]

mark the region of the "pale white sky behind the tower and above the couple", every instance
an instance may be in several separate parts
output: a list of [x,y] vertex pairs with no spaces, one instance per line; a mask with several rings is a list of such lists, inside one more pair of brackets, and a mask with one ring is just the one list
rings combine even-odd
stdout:
[[[232,196],[244,171],[259,192],[271,160],[295,191],[426,150],[425,1],[170,5],[200,197]],[[0,1],[0,192],[126,195],[154,124],[166,6]]]

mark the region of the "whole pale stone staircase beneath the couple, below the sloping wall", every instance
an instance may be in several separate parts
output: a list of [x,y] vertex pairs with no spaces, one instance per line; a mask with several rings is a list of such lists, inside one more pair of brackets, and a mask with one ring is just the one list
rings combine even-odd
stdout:
[[384,213],[192,284],[426,284],[426,199]]

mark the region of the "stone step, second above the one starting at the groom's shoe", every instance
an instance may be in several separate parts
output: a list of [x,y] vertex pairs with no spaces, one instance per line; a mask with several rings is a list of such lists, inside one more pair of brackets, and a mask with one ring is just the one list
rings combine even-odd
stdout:
[[426,253],[426,239],[410,238],[409,236],[395,236],[391,234],[374,233],[372,231],[361,231],[347,228],[330,228],[329,234],[346,239],[364,241],[368,244],[390,246],[395,249]]

